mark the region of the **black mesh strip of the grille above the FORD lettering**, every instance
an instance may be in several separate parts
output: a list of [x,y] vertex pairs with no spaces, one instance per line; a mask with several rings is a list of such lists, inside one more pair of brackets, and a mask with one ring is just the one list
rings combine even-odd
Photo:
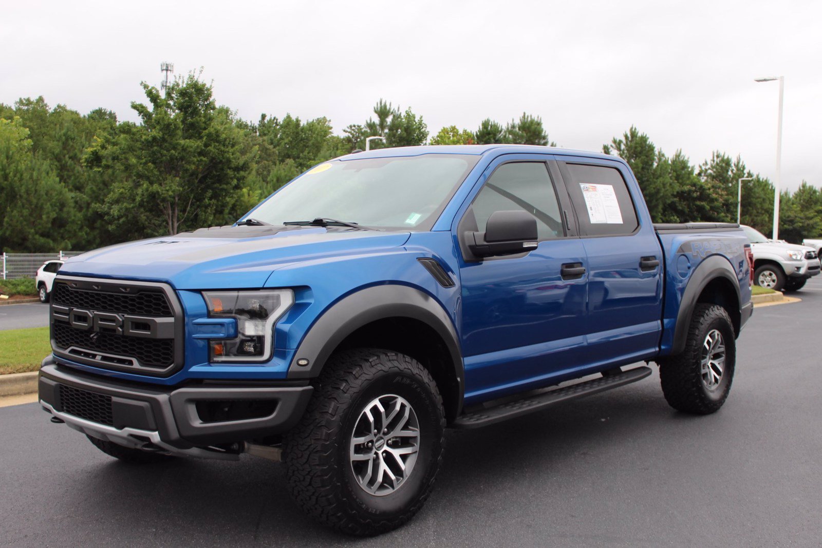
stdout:
[[55,283],[52,300],[72,308],[100,312],[166,318],[173,315],[164,292],[143,288],[137,288],[133,293],[122,293],[72,288],[67,283]]

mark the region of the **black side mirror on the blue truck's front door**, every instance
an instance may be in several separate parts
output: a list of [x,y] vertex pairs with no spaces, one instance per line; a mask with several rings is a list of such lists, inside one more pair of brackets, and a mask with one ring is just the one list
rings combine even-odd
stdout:
[[484,233],[468,232],[465,239],[471,253],[478,257],[515,255],[538,245],[537,219],[527,211],[495,211],[488,218]]

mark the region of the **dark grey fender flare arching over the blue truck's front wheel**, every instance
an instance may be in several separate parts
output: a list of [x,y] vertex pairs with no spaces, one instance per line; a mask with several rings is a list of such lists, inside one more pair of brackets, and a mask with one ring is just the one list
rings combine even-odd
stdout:
[[[411,318],[431,327],[446,344],[459,388],[457,412],[465,392],[464,364],[454,323],[434,297],[406,285],[384,284],[364,288],[331,305],[300,341],[289,364],[289,379],[312,379],[320,375],[335,348],[357,329],[376,320]],[[298,360],[308,360],[298,366]]]

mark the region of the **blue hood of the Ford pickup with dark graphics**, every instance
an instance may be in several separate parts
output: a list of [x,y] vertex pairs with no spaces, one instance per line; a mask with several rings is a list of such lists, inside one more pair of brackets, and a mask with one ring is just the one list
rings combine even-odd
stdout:
[[402,246],[410,233],[345,227],[216,227],[88,251],[60,274],[143,279],[178,289],[261,288],[285,265]]

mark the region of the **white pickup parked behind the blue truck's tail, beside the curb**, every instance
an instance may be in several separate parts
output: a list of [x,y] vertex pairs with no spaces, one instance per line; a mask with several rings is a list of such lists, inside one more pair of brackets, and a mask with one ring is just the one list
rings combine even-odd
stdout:
[[820,273],[820,260],[813,247],[774,242],[742,225],[754,254],[754,283],[776,291],[797,291],[807,279]]

